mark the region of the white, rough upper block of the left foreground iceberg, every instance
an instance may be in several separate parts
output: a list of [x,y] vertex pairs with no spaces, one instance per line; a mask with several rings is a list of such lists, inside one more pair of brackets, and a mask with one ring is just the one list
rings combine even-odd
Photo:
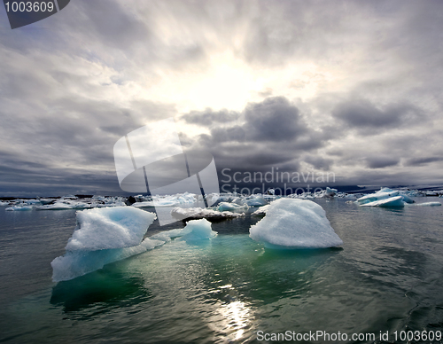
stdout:
[[66,251],[94,251],[139,245],[156,215],[135,207],[102,207],[77,212],[77,227]]

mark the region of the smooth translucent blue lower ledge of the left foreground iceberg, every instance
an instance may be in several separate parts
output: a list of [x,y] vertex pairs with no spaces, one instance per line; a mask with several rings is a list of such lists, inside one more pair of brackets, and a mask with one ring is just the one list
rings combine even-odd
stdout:
[[164,243],[165,241],[145,238],[140,245],[132,247],[97,251],[69,251],[51,262],[52,280],[59,282],[77,278],[89,272],[102,269],[105,264],[144,253]]

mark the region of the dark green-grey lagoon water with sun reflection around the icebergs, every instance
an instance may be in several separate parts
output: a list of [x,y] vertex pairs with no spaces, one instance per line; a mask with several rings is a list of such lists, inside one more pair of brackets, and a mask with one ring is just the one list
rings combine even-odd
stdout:
[[[213,223],[211,240],[173,240],[58,284],[51,261],[75,211],[0,207],[0,342],[240,343],[286,331],[407,342],[393,333],[443,331],[443,207],[315,201],[341,248],[265,249],[248,236],[260,217],[246,215]],[[148,235],[180,227],[156,222]]]

